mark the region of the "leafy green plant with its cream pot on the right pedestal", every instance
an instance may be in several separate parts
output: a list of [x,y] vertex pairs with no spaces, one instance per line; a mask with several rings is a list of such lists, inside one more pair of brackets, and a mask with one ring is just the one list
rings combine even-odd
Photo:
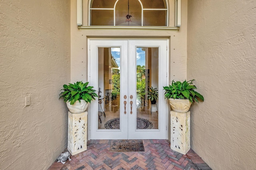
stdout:
[[169,99],[173,111],[186,113],[194,101],[198,102],[197,98],[204,101],[204,97],[194,91],[196,86],[193,81],[194,79],[183,82],[172,80],[171,85],[164,86],[164,98]]

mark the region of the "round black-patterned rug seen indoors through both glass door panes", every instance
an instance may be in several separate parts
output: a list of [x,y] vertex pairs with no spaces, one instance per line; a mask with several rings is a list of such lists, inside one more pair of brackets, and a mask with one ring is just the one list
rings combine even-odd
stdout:
[[[120,118],[114,118],[107,121],[105,129],[120,129]],[[153,124],[147,119],[137,117],[137,129],[152,129]]]

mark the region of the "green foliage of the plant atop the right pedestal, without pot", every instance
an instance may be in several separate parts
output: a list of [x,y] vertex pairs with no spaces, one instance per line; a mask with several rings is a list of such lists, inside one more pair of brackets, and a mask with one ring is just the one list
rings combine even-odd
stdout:
[[204,101],[204,97],[198,92],[194,91],[196,86],[193,84],[193,80],[189,81],[174,81],[169,86],[164,86],[164,98],[165,99],[188,99],[191,103],[198,102],[197,97]]

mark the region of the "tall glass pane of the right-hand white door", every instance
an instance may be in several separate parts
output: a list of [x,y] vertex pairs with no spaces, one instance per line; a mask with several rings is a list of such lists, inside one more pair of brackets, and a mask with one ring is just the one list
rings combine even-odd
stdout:
[[158,48],[136,51],[136,129],[158,129]]

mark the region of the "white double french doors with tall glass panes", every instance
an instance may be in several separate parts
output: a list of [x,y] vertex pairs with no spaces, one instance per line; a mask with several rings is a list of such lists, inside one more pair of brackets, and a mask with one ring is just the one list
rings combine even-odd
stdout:
[[[167,39],[89,39],[89,139],[167,139]],[[148,100],[150,88],[158,100]]]

